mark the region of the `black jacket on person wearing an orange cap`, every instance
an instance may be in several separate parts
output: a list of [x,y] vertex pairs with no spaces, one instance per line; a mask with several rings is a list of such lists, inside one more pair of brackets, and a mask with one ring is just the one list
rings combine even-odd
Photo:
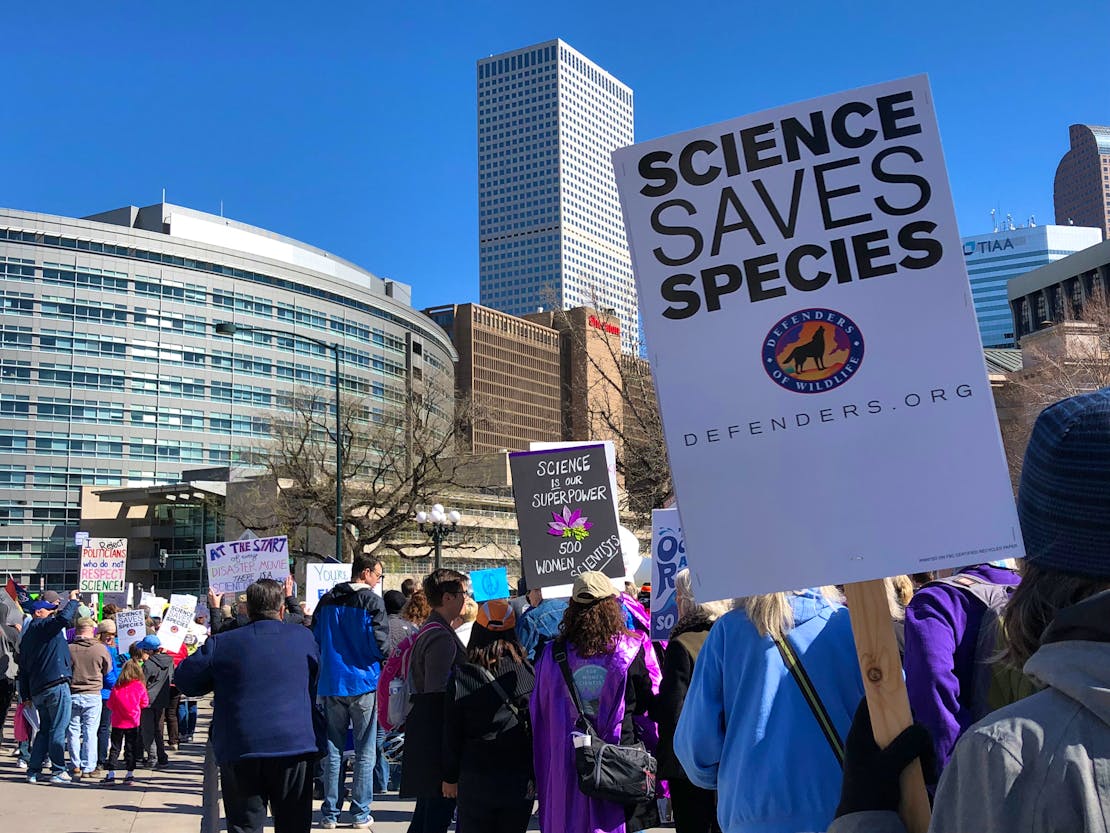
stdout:
[[443,780],[458,784],[458,801],[504,805],[535,797],[528,700],[536,682],[528,663],[502,660],[493,676],[512,709],[478,665],[455,669],[447,684]]

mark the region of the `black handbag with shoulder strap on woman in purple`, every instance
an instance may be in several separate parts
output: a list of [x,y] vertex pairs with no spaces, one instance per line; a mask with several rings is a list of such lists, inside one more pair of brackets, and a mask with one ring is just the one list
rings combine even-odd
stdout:
[[597,736],[593,724],[582,707],[578,688],[571,676],[566,659],[566,641],[558,639],[552,646],[552,656],[563,672],[571,691],[571,700],[578,712],[576,725],[589,739],[589,744],[574,747],[574,766],[578,774],[578,789],[584,795],[617,804],[636,804],[655,799],[656,762],[643,743],[622,745],[606,743]]

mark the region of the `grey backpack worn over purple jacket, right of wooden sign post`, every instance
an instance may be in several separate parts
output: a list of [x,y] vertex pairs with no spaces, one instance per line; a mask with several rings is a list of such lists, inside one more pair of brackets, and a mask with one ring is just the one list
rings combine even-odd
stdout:
[[1013,585],[995,584],[968,573],[949,575],[929,583],[958,588],[983,606],[982,623],[976,636],[971,697],[970,701],[961,697],[971,709],[972,721],[979,722],[991,712],[1035,693],[1036,686],[1021,673],[1021,669],[1012,668],[999,659],[1006,649],[1002,611],[1013,594]]

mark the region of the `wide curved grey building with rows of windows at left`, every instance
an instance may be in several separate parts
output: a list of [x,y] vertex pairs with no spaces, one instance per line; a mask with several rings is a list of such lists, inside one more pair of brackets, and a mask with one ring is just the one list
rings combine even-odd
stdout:
[[233,464],[294,391],[333,390],[333,353],[299,335],[339,345],[370,419],[453,388],[455,350],[407,285],[180,205],[0,209],[0,566],[32,588],[75,586],[82,486]]

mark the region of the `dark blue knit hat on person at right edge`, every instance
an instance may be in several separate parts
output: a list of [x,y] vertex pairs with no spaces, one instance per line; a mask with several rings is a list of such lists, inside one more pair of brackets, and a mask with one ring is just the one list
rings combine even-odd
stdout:
[[1018,520],[1031,563],[1110,579],[1110,388],[1057,402],[1037,418]]

